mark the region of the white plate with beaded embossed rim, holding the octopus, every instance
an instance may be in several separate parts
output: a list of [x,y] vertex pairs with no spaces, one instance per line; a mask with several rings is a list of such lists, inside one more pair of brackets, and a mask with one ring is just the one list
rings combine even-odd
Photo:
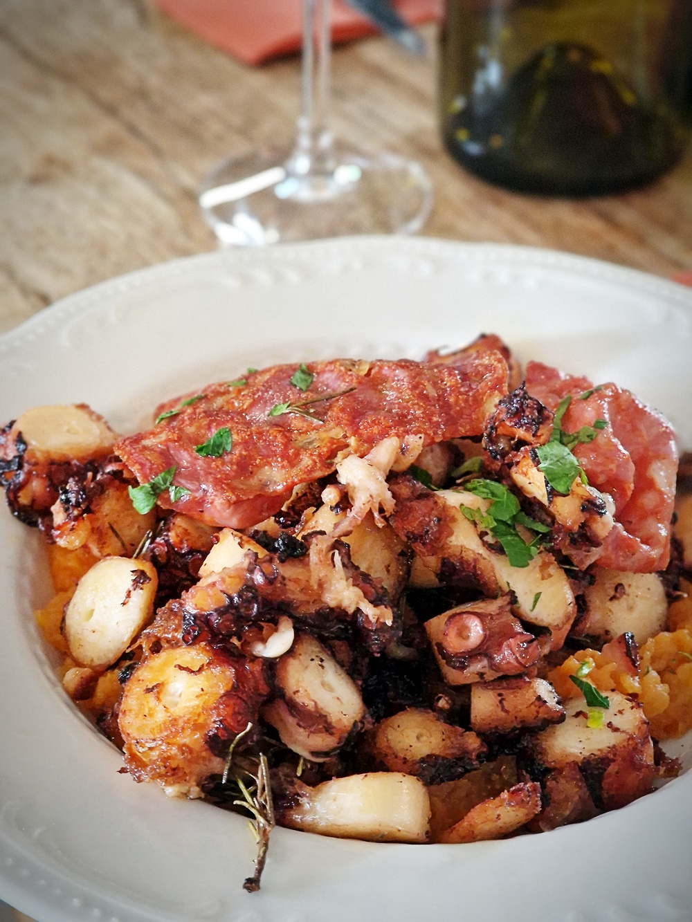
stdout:
[[[0,421],[84,401],[129,431],[163,397],[249,365],[420,357],[480,332],[634,389],[692,446],[691,291],[566,254],[400,238],[206,254],[66,298],[0,339]],[[118,774],[38,642],[31,608],[49,588],[36,534],[0,510],[0,541],[0,897],[40,922],[692,918],[692,773],[624,810],[503,842],[278,829],[261,892],[245,893],[245,821]]]

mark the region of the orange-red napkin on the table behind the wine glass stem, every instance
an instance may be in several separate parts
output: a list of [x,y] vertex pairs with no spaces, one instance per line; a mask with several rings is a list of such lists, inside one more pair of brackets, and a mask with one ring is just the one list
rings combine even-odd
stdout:
[[[210,44],[230,52],[245,64],[259,64],[301,46],[301,0],[153,0]],[[442,0],[392,0],[412,26],[439,17]],[[343,0],[333,0],[332,41],[373,35],[376,28]]]

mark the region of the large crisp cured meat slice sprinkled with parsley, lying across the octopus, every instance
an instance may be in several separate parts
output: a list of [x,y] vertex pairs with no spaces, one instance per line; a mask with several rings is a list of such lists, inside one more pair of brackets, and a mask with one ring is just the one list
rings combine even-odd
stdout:
[[[174,467],[173,485],[187,492],[162,491],[161,505],[243,528],[277,512],[295,485],[327,476],[346,455],[366,455],[388,436],[400,438],[411,463],[424,445],[482,434],[505,393],[507,361],[493,349],[462,352],[448,364],[276,365],[166,403],[152,429],[115,451],[141,484]],[[200,454],[222,430],[219,456]]]

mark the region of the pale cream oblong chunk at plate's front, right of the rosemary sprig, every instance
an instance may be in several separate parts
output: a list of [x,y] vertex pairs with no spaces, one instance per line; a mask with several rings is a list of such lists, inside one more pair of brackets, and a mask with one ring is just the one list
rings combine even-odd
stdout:
[[281,826],[369,842],[424,843],[430,800],[422,781],[398,772],[368,772],[301,785],[277,809]]

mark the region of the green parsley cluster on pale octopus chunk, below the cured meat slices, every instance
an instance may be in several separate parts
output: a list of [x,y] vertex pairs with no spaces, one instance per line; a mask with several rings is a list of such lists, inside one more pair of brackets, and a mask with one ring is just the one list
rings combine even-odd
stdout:
[[533,538],[527,544],[517,531],[517,526],[530,528],[539,534],[550,531],[550,528],[524,514],[514,493],[495,480],[470,480],[464,489],[482,499],[491,500],[491,503],[487,513],[480,509],[461,506],[461,514],[481,528],[487,529],[499,541],[507,554],[510,566],[528,567],[538,553],[540,537]]

